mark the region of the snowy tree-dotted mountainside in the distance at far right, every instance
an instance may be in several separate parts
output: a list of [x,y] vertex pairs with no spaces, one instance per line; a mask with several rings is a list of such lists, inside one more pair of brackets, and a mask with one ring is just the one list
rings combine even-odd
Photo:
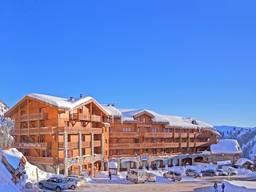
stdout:
[[238,126],[214,126],[220,134],[221,139],[237,139],[242,148],[242,158],[254,160],[256,154],[256,127]]

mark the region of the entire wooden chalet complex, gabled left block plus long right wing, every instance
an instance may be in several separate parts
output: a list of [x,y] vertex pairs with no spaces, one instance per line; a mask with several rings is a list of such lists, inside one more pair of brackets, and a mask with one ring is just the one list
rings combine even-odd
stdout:
[[15,147],[40,169],[94,175],[117,162],[118,170],[180,166],[206,160],[220,136],[193,118],[151,110],[120,110],[94,98],[28,94],[5,114],[15,119]]

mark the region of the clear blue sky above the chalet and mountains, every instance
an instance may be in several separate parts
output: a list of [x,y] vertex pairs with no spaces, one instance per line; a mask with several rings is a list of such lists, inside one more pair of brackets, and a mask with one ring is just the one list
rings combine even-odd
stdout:
[[256,126],[255,1],[1,1],[0,99],[92,96],[117,108]]

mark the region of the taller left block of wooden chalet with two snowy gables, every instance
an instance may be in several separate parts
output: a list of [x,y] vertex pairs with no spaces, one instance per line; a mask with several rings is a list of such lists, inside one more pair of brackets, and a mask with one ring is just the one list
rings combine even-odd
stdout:
[[15,147],[42,170],[94,174],[108,159],[108,114],[94,98],[27,94],[5,114]]

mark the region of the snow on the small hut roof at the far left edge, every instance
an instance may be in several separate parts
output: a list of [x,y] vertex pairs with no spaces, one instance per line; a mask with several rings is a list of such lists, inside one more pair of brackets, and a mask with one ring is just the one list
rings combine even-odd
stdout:
[[3,150],[2,156],[4,156],[6,161],[10,163],[14,170],[16,170],[18,169],[18,165],[21,162],[23,154],[17,149],[11,148],[9,150]]

